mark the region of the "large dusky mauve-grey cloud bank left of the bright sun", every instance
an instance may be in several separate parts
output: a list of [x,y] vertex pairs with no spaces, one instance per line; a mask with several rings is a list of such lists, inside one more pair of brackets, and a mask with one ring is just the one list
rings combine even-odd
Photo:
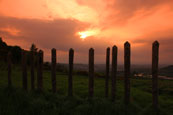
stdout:
[[[90,47],[95,48],[96,54],[104,54],[105,48],[110,45],[105,40],[88,37],[81,40],[77,32],[84,30],[89,25],[72,19],[37,20],[19,19],[11,17],[0,17],[0,36],[13,40],[29,48],[32,43],[41,49],[56,48],[67,52],[69,48],[74,48],[77,53],[88,53]],[[2,28],[13,28],[20,32],[12,35]],[[8,41],[8,40],[7,40]],[[25,46],[26,47],[26,46]]]

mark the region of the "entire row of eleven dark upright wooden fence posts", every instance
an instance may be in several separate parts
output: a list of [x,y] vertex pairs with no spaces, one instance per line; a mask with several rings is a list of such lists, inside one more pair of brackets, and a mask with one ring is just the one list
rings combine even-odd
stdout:
[[[52,91],[56,92],[56,49],[52,49]],[[111,98],[114,101],[116,97],[116,77],[117,77],[117,46],[112,47],[112,74],[111,74]],[[31,50],[31,89],[35,89],[34,82],[34,61],[35,52]],[[69,75],[68,75],[68,96],[73,96],[73,60],[74,50],[69,50]],[[8,61],[8,86],[12,85],[11,81],[11,52],[7,55]],[[153,107],[158,109],[158,64],[159,64],[159,42],[155,41],[152,44],[152,98]],[[109,94],[109,66],[110,66],[110,48],[106,50],[106,77],[105,77],[105,97]],[[94,49],[89,49],[89,83],[88,83],[88,95],[89,98],[93,97],[94,93]],[[131,47],[130,43],[124,44],[124,103],[130,103],[130,69],[131,69]],[[28,90],[27,80],[27,56],[26,51],[22,51],[22,80],[23,89]],[[37,88],[39,91],[43,90],[43,51],[40,50],[37,53]]]

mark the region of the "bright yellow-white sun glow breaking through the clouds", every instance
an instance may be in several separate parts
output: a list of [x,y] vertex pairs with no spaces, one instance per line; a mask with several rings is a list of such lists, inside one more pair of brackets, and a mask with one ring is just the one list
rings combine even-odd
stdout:
[[99,33],[99,30],[87,30],[87,31],[82,31],[78,32],[78,35],[80,36],[81,39],[85,39],[90,36],[95,36]]

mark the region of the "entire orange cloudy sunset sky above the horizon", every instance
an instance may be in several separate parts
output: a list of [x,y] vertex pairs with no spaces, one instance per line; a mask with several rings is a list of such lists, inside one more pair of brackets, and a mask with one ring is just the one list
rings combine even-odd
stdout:
[[173,64],[173,0],[0,0],[0,37],[9,45],[29,49],[34,43],[50,60],[57,49],[58,62],[105,63],[107,47],[131,43],[132,64],[151,63],[151,45],[160,42],[160,63]]

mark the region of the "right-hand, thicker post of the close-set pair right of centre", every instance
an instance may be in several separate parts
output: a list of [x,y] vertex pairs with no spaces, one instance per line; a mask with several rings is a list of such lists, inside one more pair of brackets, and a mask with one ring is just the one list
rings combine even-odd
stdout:
[[112,47],[112,101],[115,100],[116,96],[116,77],[117,77],[117,46]]

